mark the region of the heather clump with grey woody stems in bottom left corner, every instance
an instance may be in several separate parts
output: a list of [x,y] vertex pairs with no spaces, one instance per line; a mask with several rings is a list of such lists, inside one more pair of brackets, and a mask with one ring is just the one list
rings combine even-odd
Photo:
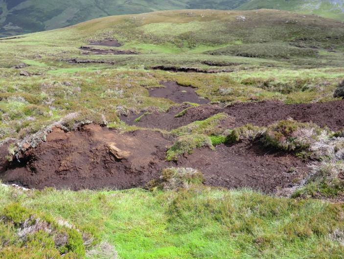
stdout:
[[81,259],[85,256],[86,240],[82,233],[46,213],[10,203],[0,211],[0,218],[0,230],[3,230],[0,258]]

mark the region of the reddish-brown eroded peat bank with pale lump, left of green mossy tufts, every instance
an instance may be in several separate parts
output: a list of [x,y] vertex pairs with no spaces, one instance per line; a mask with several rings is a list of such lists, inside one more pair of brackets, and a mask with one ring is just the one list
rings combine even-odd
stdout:
[[[110,152],[109,144],[124,158]],[[55,128],[46,143],[26,151],[0,173],[3,181],[29,188],[126,189],[156,178],[171,142],[155,131],[119,134],[97,125],[64,132]],[[117,155],[118,156],[118,155]],[[119,156],[118,156],[119,157]],[[162,163],[163,164],[163,163]]]

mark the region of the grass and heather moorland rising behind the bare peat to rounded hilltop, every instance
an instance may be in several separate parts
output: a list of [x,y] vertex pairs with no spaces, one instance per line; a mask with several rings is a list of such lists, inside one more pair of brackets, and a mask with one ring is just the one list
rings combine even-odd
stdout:
[[[1,138],[35,131],[85,108],[103,112],[109,122],[116,120],[113,109],[116,105],[129,105],[136,110],[152,105],[167,109],[171,103],[166,100],[154,103],[146,90],[162,80],[198,87],[198,94],[211,101],[333,100],[334,87],[344,75],[343,35],[341,22],[283,11],[232,11],[228,14],[193,10],[190,14],[182,10],[113,16],[2,40],[0,87],[2,98],[8,102],[2,102],[0,109],[6,129]],[[122,44],[116,50],[140,54],[96,55],[79,49],[80,46],[92,47],[89,45],[92,40],[109,37]],[[85,52],[88,55],[84,55]],[[20,63],[26,67],[14,68]],[[227,69],[232,73],[186,75],[150,70],[160,65],[206,71]],[[31,76],[20,76],[21,71]],[[104,75],[112,79],[108,82]],[[133,80],[131,86],[127,85],[128,77]],[[46,89],[42,94],[42,85],[52,87],[56,82],[70,82],[82,90],[55,96],[56,93]],[[104,95],[111,83],[117,85],[117,90],[112,90],[115,91],[112,95]],[[62,84],[58,88],[62,91],[69,86]],[[235,90],[220,90],[227,88]],[[141,93],[136,96],[139,101],[131,98],[133,92]],[[28,101],[16,101],[18,96]],[[86,106],[81,101],[84,99],[90,102]],[[103,107],[99,100],[112,105]]]

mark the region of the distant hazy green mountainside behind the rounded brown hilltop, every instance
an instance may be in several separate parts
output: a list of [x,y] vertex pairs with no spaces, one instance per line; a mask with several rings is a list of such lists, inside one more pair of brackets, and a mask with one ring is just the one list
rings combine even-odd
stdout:
[[344,21],[344,0],[0,0],[0,37],[172,9],[282,9]]

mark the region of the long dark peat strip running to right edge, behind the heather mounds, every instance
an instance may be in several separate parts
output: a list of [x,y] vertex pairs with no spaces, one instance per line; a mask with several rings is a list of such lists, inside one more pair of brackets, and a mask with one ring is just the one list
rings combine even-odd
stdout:
[[[220,112],[229,114],[230,121],[225,122],[226,127],[235,128],[248,123],[256,126],[267,126],[276,121],[293,118],[299,122],[314,122],[321,127],[332,130],[344,128],[344,100],[315,103],[315,104],[283,104],[279,101],[266,101],[261,103],[239,103],[223,107],[218,104],[207,104],[191,107],[182,117],[175,115],[185,109],[184,106],[171,107],[165,113],[154,112],[134,122],[138,115],[129,115],[121,119],[130,125],[145,128],[176,129],[194,121],[205,120]],[[234,120],[233,120],[234,118]]]

